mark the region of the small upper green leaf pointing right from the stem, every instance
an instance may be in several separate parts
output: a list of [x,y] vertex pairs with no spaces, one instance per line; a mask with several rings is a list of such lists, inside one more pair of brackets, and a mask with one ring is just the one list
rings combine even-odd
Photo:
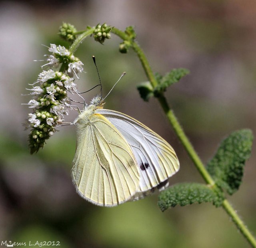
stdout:
[[166,73],[162,78],[158,79],[158,86],[154,89],[154,95],[157,97],[162,92],[166,91],[166,88],[176,82],[181,78],[189,74],[189,70],[185,68],[172,69],[170,72]]

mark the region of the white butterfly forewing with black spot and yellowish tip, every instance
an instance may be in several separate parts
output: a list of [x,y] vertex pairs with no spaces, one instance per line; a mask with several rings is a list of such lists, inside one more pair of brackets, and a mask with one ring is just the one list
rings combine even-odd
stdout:
[[168,178],[180,167],[173,148],[154,131],[134,118],[114,110],[97,109],[124,136],[131,146],[140,170],[140,189],[134,195],[137,200],[168,186]]

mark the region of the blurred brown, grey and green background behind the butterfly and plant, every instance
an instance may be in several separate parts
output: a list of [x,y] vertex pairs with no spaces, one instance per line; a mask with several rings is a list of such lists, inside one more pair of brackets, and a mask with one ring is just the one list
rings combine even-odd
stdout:
[[[56,34],[64,22],[78,30],[107,22],[124,30],[133,25],[137,41],[155,72],[185,67],[191,73],[166,92],[196,151],[207,162],[232,131],[256,134],[256,2],[252,0],[27,0],[0,1],[0,241],[59,241],[60,247],[216,248],[249,247],[222,208],[211,204],[175,207],[162,213],[157,194],[115,208],[94,206],[76,194],[70,170],[74,127],[60,128],[43,150],[30,155],[22,123],[31,109],[28,83],[36,80],[50,43],[68,44]],[[106,95],[122,72],[126,76],[108,96],[106,108],[124,112],[163,136],[176,150],[177,182],[203,182],[158,106],[143,102],[136,85],[146,81],[131,50],[121,40],[104,45],[87,38],[76,56],[84,62],[79,90],[98,83],[92,55]],[[95,89],[85,95],[89,101]],[[66,120],[77,116],[74,111]],[[246,164],[244,182],[232,196],[238,214],[256,234],[256,155]]]

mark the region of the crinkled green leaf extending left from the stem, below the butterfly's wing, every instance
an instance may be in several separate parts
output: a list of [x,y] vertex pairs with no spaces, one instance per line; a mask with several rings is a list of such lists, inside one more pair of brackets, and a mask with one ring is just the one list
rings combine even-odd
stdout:
[[186,206],[196,202],[212,202],[215,206],[220,206],[223,199],[222,194],[205,184],[180,183],[160,193],[158,206],[162,211],[176,205]]

